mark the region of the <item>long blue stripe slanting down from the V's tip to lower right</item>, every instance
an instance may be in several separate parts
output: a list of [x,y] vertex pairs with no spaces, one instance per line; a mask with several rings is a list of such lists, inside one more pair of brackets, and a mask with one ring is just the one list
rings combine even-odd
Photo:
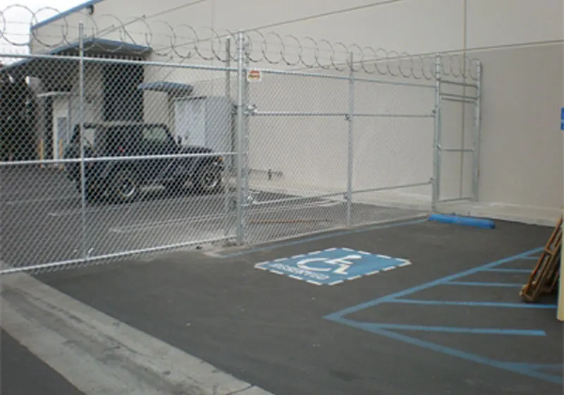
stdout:
[[[356,327],[357,329],[363,329],[362,324],[360,322],[346,320],[346,319],[341,318],[341,317],[336,317],[333,320],[340,323],[340,324],[345,324],[345,325],[348,325],[350,327]],[[469,360],[471,362],[480,363],[480,364],[486,365],[486,366],[498,367],[500,369],[508,370],[510,372],[520,373],[521,375],[527,375],[529,377],[534,377],[536,379],[542,379],[546,382],[552,382],[552,383],[556,383],[556,384],[562,384],[562,382],[563,382],[562,377],[557,377],[557,376],[554,376],[554,375],[548,375],[548,374],[543,373],[543,372],[537,372],[535,370],[528,369],[527,367],[511,365],[510,363],[503,363],[503,362],[500,362],[500,361],[497,361],[497,360],[484,358],[482,356],[478,356],[478,355],[472,354],[472,353],[466,353],[464,351],[460,351],[460,350],[457,350],[455,348],[440,346],[439,344],[434,344],[434,343],[431,343],[429,341],[415,339],[413,337],[406,336],[404,334],[398,334],[396,332],[390,332],[390,331],[387,331],[385,329],[378,329],[376,327],[367,328],[366,330],[368,330],[369,332],[372,332],[374,334],[386,336],[389,339],[395,339],[395,340],[398,340],[398,341],[403,341],[407,344],[412,344],[414,346],[427,348],[428,350],[435,351],[437,353],[443,353],[443,354],[446,354],[448,356],[453,356],[455,358],[461,358],[461,359],[464,359],[464,360]]]

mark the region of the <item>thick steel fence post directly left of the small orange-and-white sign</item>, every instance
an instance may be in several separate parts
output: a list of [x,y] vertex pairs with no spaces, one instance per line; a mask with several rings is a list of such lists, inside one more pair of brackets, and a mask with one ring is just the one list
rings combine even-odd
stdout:
[[244,70],[244,39],[243,32],[237,36],[237,243],[243,244],[243,142],[245,131],[243,130],[243,89],[245,88]]

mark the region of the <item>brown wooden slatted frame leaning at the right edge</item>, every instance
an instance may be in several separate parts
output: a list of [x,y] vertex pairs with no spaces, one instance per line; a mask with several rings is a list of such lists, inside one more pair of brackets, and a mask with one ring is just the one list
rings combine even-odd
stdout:
[[534,303],[541,295],[556,291],[560,277],[562,224],[563,217],[560,217],[537,261],[537,265],[529,275],[529,281],[521,288],[520,296],[527,303]]

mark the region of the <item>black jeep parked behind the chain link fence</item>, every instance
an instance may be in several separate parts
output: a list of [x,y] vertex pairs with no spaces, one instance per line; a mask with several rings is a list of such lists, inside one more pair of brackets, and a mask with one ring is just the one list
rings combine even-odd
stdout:
[[[164,124],[85,123],[82,138],[87,200],[109,195],[116,202],[132,202],[141,188],[155,184],[178,189],[190,181],[204,193],[221,186],[223,158],[207,147],[181,146]],[[64,157],[80,158],[78,125]],[[80,162],[66,162],[65,170],[82,190]]]

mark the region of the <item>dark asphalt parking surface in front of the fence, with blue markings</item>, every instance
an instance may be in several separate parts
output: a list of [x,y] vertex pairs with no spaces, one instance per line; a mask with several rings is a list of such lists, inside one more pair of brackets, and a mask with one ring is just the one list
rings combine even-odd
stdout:
[[422,219],[37,278],[272,394],[561,394],[556,298],[518,295],[551,229],[496,224]]

